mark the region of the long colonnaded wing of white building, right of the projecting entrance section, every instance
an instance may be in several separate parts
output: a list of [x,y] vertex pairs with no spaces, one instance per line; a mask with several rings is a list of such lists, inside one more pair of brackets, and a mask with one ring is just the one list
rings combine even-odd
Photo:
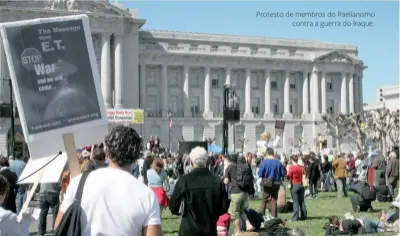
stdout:
[[[314,150],[321,113],[362,110],[366,67],[352,45],[152,30],[139,36],[146,136],[215,137],[222,145],[224,84],[234,84],[241,99],[241,121],[230,126],[229,146],[241,148],[245,138],[245,151],[256,149],[265,130],[274,136],[276,120],[286,121],[278,149],[297,149],[302,137],[300,149]],[[332,138],[327,141],[336,148]]]

